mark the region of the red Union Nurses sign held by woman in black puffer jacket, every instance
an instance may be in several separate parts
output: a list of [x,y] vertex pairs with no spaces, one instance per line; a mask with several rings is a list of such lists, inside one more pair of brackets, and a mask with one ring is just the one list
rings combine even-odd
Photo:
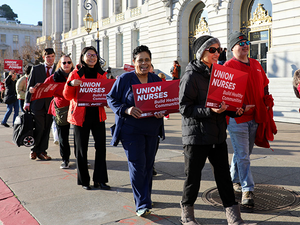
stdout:
[[205,107],[219,108],[225,101],[226,110],[242,106],[248,73],[213,63]]

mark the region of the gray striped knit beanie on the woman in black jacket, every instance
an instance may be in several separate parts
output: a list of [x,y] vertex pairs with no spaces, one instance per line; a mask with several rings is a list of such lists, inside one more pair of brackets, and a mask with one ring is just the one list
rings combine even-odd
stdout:
[[218,38],[209,35],[203,35],[194,40],[191,48],[196,55],[196,58],[201,60],[204,50],[214,43],[217,43],[219,46],[221,45]]

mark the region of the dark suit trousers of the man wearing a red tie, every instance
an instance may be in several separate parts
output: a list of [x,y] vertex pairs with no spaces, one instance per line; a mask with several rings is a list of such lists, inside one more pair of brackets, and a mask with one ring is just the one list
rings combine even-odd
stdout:
[[48,149],[52,115],[48,114],[45,105],[40,110],[31,110],[34,115],[34,145],[31,148],[37,155]]

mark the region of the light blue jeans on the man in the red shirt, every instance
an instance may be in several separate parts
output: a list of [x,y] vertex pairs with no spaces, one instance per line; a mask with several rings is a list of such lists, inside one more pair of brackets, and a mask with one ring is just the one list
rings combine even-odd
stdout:
[[254,119],[237,124],[234,118],[229,118],[227,130],[234,150],[230,167],[231,179],[233,183],[240,182],[242,192],[254,190],[250,154],[254,146],[257,125]]

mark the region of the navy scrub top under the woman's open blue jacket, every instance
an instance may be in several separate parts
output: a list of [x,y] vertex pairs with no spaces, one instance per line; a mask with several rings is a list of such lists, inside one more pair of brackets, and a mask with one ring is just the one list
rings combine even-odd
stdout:
[[[148,83],[155,82],[151,76],[148,76]],[[135,106],[132,85],[141,84],[138,77],[134,73],[130,80],[130,90],[126,97],[126,104]],[[138,133],[144,135],[158,135],[159,127],[162,125],[162,118],[155,118],[154,116],[146,118],[134,118],[132,115],[125,114],[124,123],[121,132]]]

